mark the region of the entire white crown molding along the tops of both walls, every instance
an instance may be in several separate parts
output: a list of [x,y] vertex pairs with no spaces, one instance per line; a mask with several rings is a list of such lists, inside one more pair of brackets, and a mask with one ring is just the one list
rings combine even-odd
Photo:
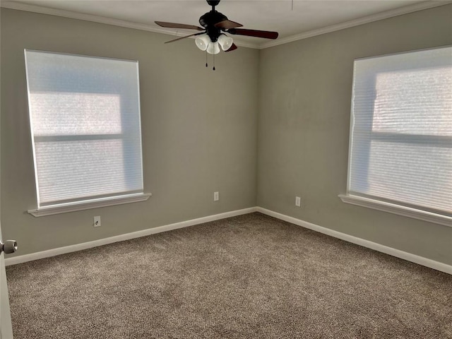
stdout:
[[[290,37],[283,37],[278,40],[272,40],[270,42],[264,42],[262,44],[252,43],[248,41],[237,40],[234,37],[234,44],[240,47],[248,47],[254,49],[266,49],[268,47],[278,46],[280,44],[287,44],[289,42],[294,42],[297,40],[307,39],[309,37],[315,37],[316,35],[322,35],[326,33],[335,32],[337,30],[344,30],[346,28],[352,28],[358,25],[363,25],[364,23],[373,23],[374,21],[383,20],[387,18],[393,18],[395,16],[402,16],[403,14],[413,13],[417,11],[422,11],[424,9],[434,8],[438,6],[444,6],[446,4],[451,4],[452,0],[429,0],[421,2],[420,4],[414,4],[410,6],[405,6],[402,8],[396,8],[391,11],[385,11],[381,13],[374,14],[372,16],[364,16],[363,18],[346,21],[345,23],[339,23],[337,25],[327,26],[325,28],[319,28],[317,30],[309,30],[307,32],[302,32],[297,35],[291,35]],[[92,21],[95,23],[104,23],[106,25],[114,25],[124,28],[132,28],[135,30],[145,30],[148,32],[155,32],[160,34],[175,35],[177,37],[182,37],[187,34],[184,31],[174,31],[166,30],[165,28],[160,28],[154,25],[147,25],[144,23],[133,23],[131,21],[119,20],[114,18],[107,18],[104,16],[93,16],[91,14],[78,13],[73,11],[66,11],[63,9],[55,9],[43,6],[35,6],[30,4],[23,4],[16,1],[0,1],[0,7],[16,9],[18,11],[28,11],[34,13],[48,14],[50,16],[62,16],[64,18],[72,18],[78,20]],[[194,39],[194,37],[190,37]]]

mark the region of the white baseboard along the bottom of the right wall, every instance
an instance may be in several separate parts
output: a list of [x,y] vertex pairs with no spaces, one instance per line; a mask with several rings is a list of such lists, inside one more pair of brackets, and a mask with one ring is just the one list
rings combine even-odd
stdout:
[[392,247],[377,244],[376,242],[369,242],[369,240],[353,237],[352,235],[334,231],[326,227],[321,227],[319,225],[299,220],[297,218],[292,218],[288,215],[273,212],[273,210],[267,210],[266,208],[258,207],[256,208],[256,210],[265,215],[270,215],[270,217],[278,218],[280,220],[284,220],[298,226],[309,228],[309,230],[327,234],[331,237],[345,240],[346,242],[351,242],[353,244],[367,247],[368,249],[374,249],[375,251],[379,251],[384,254],[389,254],[391,256],[396,256],[397,258],[402,258],[404,260],[411,261],[412,263],[417,263],[422,266],[433,268],[434,270],[440,270],[441,272],[452,274],[452,266],[447,265],[446,263],[440,263],[439,261],[434,261],[432,259],[424,258],[422,256],[417,256],[415,254],[411,254],[405,251],[400,251],[399,249],[393,249]]

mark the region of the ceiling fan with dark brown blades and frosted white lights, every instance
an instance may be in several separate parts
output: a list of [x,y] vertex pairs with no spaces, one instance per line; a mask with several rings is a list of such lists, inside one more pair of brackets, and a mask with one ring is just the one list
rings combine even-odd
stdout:
[[218,54],[220,53],[220,47],[225,52],[237,49],[232,37],[225,35],[225,32],[232,35],[246,35],[249,37],[263,37],[266,39],[276,39],[278,37],[278,32],[270,32],[268,30],[246,30],[239,28],[243,25],[228,20],[224,14],[215,11],[215,6],[220,4],[220,0],[206,1],[209,6],[212,6],[212,10],[199,18],[199,24],[203,26],[203,28],[195,25],[185,25],[183,23],[165,23],[162,21],[155,21],[157,25],[165,28],[184,28],[188,30],[201,31],[191,35],[186,35],[185,37],[178,37],[177,39],[169,40],[165,43],[197,35],[198,37],[196,38],[195,43],[199,49],[206,51],[209,54]]

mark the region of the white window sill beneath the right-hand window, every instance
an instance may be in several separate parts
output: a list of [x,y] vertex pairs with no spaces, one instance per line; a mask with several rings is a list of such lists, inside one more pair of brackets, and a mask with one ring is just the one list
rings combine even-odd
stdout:
[[351,203],[352,205],[373,208],[374,210],[382,210],[383,212],[404,215],[405,217],[434,222],[436,224],[452,227],[452,218],[446,215],[431,213],[424,210],[417,210],[416,208],[400,206],[394,203],[386,203],[374,199],[363,198],[361,196],[339,194],[339,198],[344,203]]

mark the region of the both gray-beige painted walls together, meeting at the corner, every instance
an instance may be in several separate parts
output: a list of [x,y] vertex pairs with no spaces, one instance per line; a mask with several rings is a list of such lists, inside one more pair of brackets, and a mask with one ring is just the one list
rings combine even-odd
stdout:
[[[452,264],[451,227],[338,198],[353,59],[451,44],[451,17],[447,5],[261,51],[240,47],[218,54],[213,72],[193,40],[163,44],[171,37],[1,8],[4,237],[28,254],[257,205]],[[24,48],[140,61],[148,201],[42,218],[25,212],[36,199]],[[94,215],[102,227],[92,226]]]

